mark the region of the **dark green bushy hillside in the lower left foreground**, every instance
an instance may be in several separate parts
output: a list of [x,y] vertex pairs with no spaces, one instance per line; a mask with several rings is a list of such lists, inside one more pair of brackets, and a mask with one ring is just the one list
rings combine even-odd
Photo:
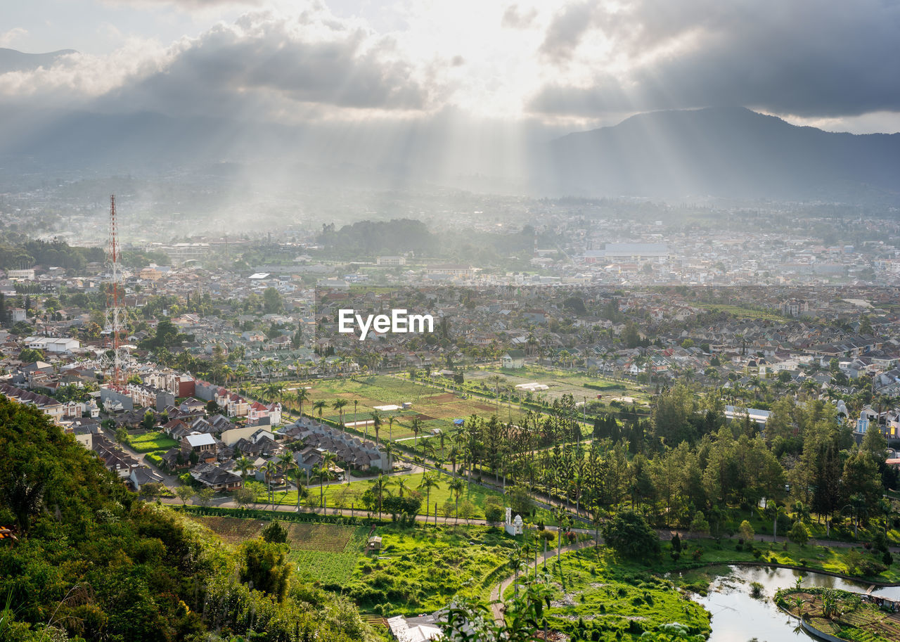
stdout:
[[274,583],[268,594],[240,583],[233,551],[208,530],[140,502],[75,439],[4,398],[0,461],[0,524],[19,533],[0,546],[4,640],[373,635],[350,602],[307,584],[287,582],[282,593]]

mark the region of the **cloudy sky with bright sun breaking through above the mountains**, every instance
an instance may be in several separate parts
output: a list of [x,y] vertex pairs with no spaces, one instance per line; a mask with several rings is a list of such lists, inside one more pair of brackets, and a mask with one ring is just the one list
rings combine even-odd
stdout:
[[740,104],[900,131],[896,0],[29,0],[0,103],[260,122],[554,130]]

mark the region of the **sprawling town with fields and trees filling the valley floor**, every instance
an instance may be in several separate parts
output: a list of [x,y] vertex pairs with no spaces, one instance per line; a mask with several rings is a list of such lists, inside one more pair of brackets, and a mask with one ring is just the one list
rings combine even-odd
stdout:
[[[109,236],[118,247],[115,225]],[[497,269],[502,257],[476,267],[411,250],[350,264],[241,258],[320,242],[232,244],[231,267],[223,249],[177,260],[171,248],[125,249],[114,265],[63,240],[8,246],[7,257],[33,256],[0,281],[0,393],[45,414],[140,498],[226,541],[252,538],[260,518],[288,524],[292,550],[310,551],[292,553],[294,573],[349,591],[376,636],[435,637],[451,596],[518,582],[499,571],[473,584],[480,571],[464,564],[450,588],[411,597],[401,582],[425,578],[378,562],[396,592],[378,601],[365,559],[390,559],[381,552],[423,528],[484,537],[495,564],[518,556],[498,568],[526,578],[539,553],[528,542],[546,535],[554,573],[576,586],[592,576],[577,579],[581,556],[622,564],[660,537],[665,568],[687,551],[897,577],[894,250],[798,240],[806,249],[775,271],[736,264],[732,249],[701,266],[671,239],[593,250],[583,235],[550,253],[529,238],[530,267],[514,272]],[[314,520],[331,535],[311,535]],[[617,528],[647,537],[617,544]],[[590,548],[601,530],[608,548]],[[722,557],[723,537],[745,550]],[[814,538],[844,554],[811,561]],[[428,568],[434,554],[420,548]],[[683,602],[679,626],[702,637],[707,611],[673,588],[661,583],[661,599]],[[581,635],[560,600],[554,631]],[[410,617],[423,610],[435,615]],[[650,630],[604,621],[581,631]]]

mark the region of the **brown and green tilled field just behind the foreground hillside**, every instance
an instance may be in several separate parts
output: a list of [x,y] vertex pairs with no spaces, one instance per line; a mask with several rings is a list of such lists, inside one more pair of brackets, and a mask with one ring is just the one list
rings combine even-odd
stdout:
[[[264,520],[245,520],[220,515],[189,515],[191,520],[211,529],[220,539],[238,545],[259,537]],[[310,522],[282,522],[291,547],[289,559],[303,579],[332,586],[344,586],[363,555],[370,531],[365,526],[338,526]]]

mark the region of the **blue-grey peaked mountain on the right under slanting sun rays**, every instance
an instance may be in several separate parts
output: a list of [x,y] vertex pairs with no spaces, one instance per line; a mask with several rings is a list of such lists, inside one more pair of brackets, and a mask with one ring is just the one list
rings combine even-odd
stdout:
[[550,143],[554,194],[900,198],[900,134],[797,127],[742,107],[642,113]]

